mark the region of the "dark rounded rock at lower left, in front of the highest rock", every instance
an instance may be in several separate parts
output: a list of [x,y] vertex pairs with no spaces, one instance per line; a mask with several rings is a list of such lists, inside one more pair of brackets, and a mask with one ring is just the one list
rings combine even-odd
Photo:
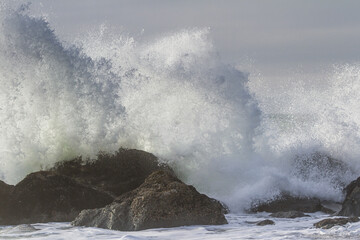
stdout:
[[113,201],[107,193],[54,172],[29,174],[11,191],[1,224],[72,221],[81,210]]

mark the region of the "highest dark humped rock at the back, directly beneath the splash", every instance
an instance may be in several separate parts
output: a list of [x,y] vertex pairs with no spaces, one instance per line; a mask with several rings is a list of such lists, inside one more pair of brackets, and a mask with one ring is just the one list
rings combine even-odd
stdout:
[[114,197],[139,187],[154,171],[172,172],[168,166],[160,165],[153,154],[135,149],[120,149],[113,155],[102,153],[96,161],[80,157],[61,162],[51,170]]

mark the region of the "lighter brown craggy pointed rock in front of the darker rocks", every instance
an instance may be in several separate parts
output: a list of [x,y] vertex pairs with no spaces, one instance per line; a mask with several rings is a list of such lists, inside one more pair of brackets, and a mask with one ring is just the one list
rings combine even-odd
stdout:
[[82,211],[72,224],[122,231],[218,225],[227,223],[225,211],[220,202],[198,193],[173,174],[157,171],[112,204]]

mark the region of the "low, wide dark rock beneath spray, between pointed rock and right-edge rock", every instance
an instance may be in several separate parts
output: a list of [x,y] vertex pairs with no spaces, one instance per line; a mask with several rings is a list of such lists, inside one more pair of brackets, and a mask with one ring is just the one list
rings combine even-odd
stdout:
[[333,213],[331,209],[324,207],[321,201],[316,198],[292,197],[289,194],[283,194],[279,198],[265,202],[257,203],[250,209],[250,212],[280,212],[280,211],[300,211],[300,212],[318,212]]

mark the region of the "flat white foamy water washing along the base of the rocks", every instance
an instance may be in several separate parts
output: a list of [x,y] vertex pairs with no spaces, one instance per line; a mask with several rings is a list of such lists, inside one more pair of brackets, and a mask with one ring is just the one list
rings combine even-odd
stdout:
[[[32,224],[0,227],[1,239],[358,239],[360,223],[349,223],[331,229],[317,229],[313,224],[328,217],[311,214],[297,219],[270,218],[267,213],[227,215],[228,225],[160,228],[138,232],[120,232],[99,228],[72,227],[70,223]],[[256,226],[253,222],[271,219],[275,225]]]

